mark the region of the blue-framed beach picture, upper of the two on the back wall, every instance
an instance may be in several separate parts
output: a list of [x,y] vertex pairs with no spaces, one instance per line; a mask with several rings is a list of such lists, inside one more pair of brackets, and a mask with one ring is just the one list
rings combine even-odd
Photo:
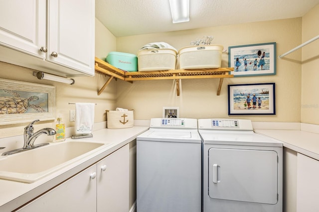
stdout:
[[276,43],[228,47],[228,67],[234,76],[276,74]]

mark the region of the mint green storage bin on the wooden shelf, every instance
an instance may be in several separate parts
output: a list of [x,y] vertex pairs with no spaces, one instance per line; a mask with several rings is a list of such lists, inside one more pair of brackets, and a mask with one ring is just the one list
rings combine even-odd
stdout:
[[106,62],[124,71],[138,71],[138,57],[123,52],[110,52]]

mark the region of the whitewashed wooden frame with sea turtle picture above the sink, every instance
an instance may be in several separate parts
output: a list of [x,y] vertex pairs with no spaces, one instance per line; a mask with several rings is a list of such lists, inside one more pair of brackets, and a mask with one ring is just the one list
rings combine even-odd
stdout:
[[0,79],[0,125],[55,119],[55,86]]

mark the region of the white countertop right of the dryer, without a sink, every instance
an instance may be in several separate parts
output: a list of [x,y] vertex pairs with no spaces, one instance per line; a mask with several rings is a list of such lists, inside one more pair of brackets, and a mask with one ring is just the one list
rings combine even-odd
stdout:
[[319,160],[319,134],[302,130],[254,130],[255,133],[282,141],[284,147]]

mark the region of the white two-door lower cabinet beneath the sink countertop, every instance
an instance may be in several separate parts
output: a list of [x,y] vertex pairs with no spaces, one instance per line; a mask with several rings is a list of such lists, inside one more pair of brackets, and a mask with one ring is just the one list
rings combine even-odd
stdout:
[[128,212],[129,144],[17,211]]

